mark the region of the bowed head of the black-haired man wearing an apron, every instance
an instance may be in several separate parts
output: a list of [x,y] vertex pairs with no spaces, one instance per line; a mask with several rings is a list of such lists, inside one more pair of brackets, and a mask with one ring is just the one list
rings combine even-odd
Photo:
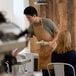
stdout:
[[26,15],[27,19],[33,23],[35,21],[35,17],[38,16],[38,13],[34,7],[28,6],[24,9],[24,15]]

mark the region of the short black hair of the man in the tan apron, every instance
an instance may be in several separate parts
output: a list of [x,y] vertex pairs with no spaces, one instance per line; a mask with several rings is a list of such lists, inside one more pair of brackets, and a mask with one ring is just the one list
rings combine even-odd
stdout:
[[24,14],[25,15],[31,15],[31,16],[34,16],[34,15],[37,16],[38,15],[37,10],[34,7],[32,7],[32,6],[26,7],[24,9]]

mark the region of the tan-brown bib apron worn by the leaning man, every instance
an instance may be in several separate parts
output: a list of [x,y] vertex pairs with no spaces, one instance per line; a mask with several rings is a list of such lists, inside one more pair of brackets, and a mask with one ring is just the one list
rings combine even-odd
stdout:
[[[33,26],[34,33],[38,39],[38,41],[44,40],[44,41],[51,41],[52,36],[44,29],[42,21],[41,26]],[[56,47],[56,44],[54,44],[54,48]],[[46,69],[46,66],[48,63],[51,62],[51,51],[53,50],[53,47],[51,46],[40,46],[39,49],[39,63],[38,63],[38,70]]]

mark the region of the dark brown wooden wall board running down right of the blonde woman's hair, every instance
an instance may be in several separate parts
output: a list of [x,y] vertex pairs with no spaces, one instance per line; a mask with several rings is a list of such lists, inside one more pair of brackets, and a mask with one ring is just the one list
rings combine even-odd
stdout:
[[75,35],[74,35],[74,0],[67,0],[67,15],[68,24],[67,29],[71,32],[72,46],[75,46]]

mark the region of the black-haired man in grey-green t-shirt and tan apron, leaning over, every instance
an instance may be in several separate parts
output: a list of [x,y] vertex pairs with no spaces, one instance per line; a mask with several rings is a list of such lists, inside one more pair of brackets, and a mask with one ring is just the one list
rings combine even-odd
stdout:
[[38,69],[46,69],[46,65],[51,60],[50,53],[56,47],[56,40],[59,34],[58,28],[50,19],[39,17],[37,10],[32,6],[24,9],[24,15],[30,22],[29,37],[35,35],[38,39],[38,45],[40,45]]

